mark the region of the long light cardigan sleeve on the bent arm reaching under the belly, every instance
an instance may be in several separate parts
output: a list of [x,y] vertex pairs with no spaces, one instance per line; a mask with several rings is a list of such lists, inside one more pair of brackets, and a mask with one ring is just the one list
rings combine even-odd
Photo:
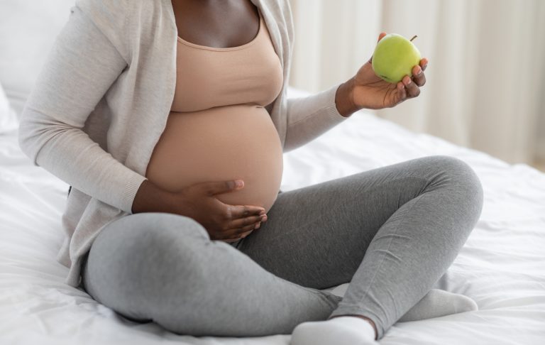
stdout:
[[[94,23],[83,9],[107,1],[78,1],[55,40],[21,114],[18,143],[41,166],[87,195],[132,213],[145,177],[127,168],[82,131],[89,114],[127,66],[111,38],[124,33],[127,13]],[[82,4],[80,7],[79,4]],[[120,20],[121,19],[121,20]],[[99,26],[110,25],[111,37]]]

